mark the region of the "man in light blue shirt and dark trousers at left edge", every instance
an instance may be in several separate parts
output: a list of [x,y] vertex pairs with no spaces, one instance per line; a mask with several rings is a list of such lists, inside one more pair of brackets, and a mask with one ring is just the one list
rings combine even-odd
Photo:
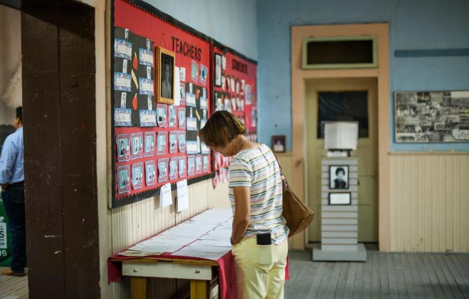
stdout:
[[11,267],[0,272],[6,276],[23,276],[26,266],[26,230],[24,219],[24,169],[23,169],[23,113],[16,109],[13,126],[1,150],[0,184],[1,199],[8,216],[12,235]]

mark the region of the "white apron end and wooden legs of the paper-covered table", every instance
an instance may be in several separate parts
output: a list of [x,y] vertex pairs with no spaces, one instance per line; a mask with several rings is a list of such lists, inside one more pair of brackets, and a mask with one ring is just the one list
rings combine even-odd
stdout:
[[148,278],[191,280],[191,299],[209,299],[218,280],[218,264],[212,260],[136,258],[122,261],[122,275],[130,276],[130,298],[147,298]]

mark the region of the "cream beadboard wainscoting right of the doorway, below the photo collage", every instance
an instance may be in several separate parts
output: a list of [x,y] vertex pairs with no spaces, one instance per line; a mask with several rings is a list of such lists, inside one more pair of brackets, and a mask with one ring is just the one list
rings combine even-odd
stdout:
[[469,251],[469,153],[391,153],[391,251]]

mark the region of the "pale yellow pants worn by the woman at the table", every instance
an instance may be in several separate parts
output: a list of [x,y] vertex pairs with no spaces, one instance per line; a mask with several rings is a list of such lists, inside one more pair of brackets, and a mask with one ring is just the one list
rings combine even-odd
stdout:
[[283,298],[288,243],[257,245],[244,238],[232,248],[238,299]]

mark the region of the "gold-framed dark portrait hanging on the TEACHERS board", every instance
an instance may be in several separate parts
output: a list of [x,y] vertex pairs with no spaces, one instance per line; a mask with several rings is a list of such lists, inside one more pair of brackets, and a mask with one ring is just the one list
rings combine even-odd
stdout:
[[156,47],[155,53],[156,100],[160,103],[174,104],[174,72],[176,61],[174,52],[162,47]]

